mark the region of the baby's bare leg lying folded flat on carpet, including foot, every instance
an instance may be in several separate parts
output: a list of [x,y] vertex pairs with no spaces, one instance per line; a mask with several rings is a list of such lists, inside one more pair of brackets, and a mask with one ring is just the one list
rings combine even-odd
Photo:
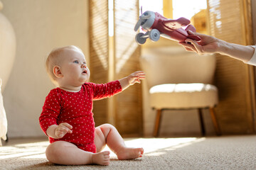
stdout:
[[55,164],[110,164],[110,152],[85,152],[70,142],[57,141],[51,143],[46,149],[46,157]]

